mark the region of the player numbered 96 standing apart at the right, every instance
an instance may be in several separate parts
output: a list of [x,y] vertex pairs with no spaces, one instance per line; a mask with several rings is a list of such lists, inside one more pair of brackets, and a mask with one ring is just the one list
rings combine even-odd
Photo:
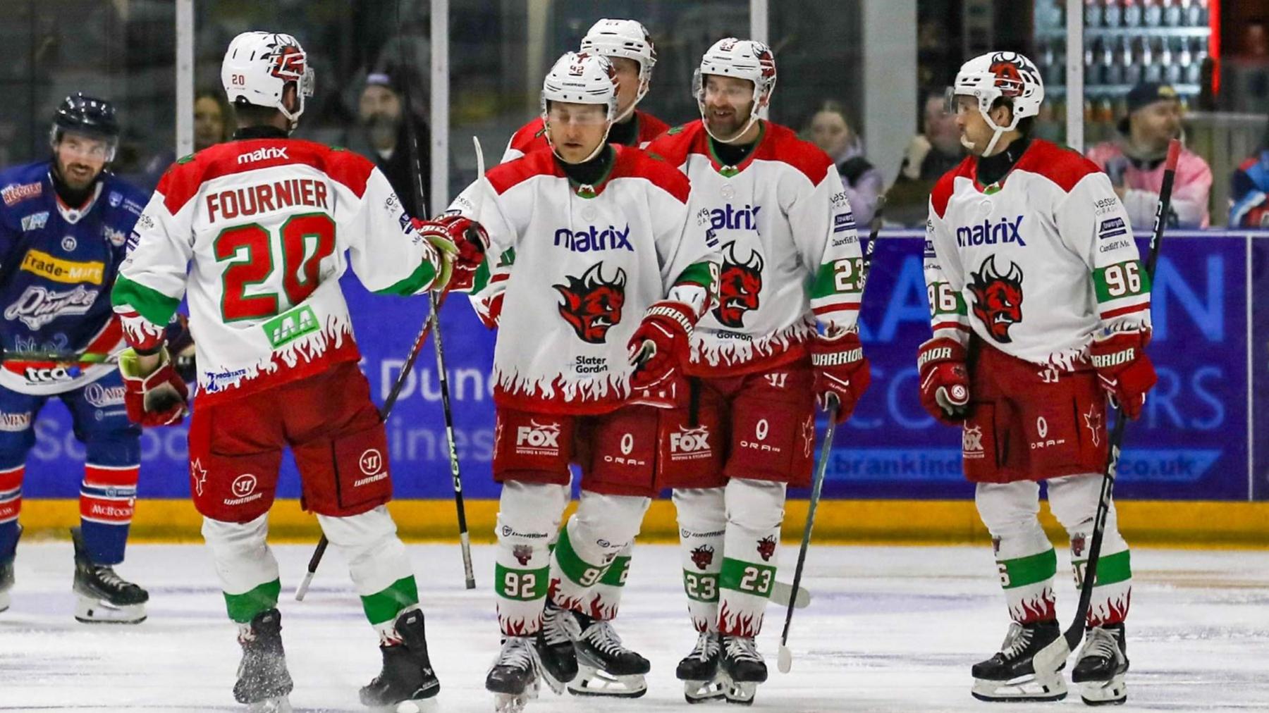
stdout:
[[[1039,481],[1070,534],[1076,581],[1107,462],[1103,392],[1136,419],[1155,383],[1150,280],[1105,174],[1030,138],[1044,86],[1022,55],[966,62],[949,90],[970,150],[930,195],[925,280],[934,336],[921,345],[920,393],[962,428],[966,477],[991,533],[1013,623],[999,653],[973,666],[983,700],[1066,695],[1057,664],[1036,653],[1062,632],[1057,557],[1041,529]],[[1123,620],[1128,544],[1107,516],[1088,637],[1072,671],[1085,703],[1126,698]]]

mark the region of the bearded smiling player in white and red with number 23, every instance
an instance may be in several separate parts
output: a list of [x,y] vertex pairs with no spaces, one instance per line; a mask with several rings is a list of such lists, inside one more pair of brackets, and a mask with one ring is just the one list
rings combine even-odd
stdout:
[[816,400],[835,397],[844,421],[868,387],[855,329],[862,256],[832,160],[759,118],[775,89],[770,48],[722,39],[694,84],[700,121],[648,146],[692,180],[703,206],[693,221],[722,249],[718,303],[692,337],[687,407],[661,421],[699,632],[676,674],[689,702],[750,703],[766,680],[754,637],[775,581],[784,491],[811,481]]

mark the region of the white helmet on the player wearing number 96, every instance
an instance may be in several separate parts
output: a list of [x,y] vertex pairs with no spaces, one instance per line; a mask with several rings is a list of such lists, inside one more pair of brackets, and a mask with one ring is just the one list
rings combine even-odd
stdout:
[[[1018,128],[1019,121],[1039,114],[1039,105],[1044,101],[1044,82],[1036,63],[1018,52],[989,52],[961,65],[948,95],[952,100],[957,96],[977,99],[978,113],[995,129],[983,151],[983,155],[990,156],[1003,133]],[[997,99],[1009,100],[1013,108],[1014,119],[1009,126],[997,126],[991,121],[991,105]],[[954,107],[950,109],[956,110]]]

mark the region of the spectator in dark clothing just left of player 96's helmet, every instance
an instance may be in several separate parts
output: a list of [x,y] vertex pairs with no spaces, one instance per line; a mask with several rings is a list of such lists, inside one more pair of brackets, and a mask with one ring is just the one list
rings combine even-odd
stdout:
[[956,114],[947,110],[944,91],[928,90],[921,105],[921,133],[904,151],[895,184],[886,193],[886,222],[925,225],[930,190],[939,176],[964,159]]

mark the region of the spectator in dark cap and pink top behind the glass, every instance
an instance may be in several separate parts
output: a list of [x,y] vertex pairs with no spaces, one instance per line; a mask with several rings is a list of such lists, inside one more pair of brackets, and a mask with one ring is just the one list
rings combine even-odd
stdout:
[[[1142,82],[1128,93],[1128,115],[1119,121],[1119,136],[1089,150],[1088,156],[1110,176],[1115,194],[1132,217],[1133,230],[1155,225],[1159,189],[1164,185],[1167,142],[1181,136],[1181,105],[1176,90],[1160,82]],[[1212,194],[1212,169],[1202,156],[1183,148],[1173,184],[1167,225],[1208,227],[1207,203]]]

